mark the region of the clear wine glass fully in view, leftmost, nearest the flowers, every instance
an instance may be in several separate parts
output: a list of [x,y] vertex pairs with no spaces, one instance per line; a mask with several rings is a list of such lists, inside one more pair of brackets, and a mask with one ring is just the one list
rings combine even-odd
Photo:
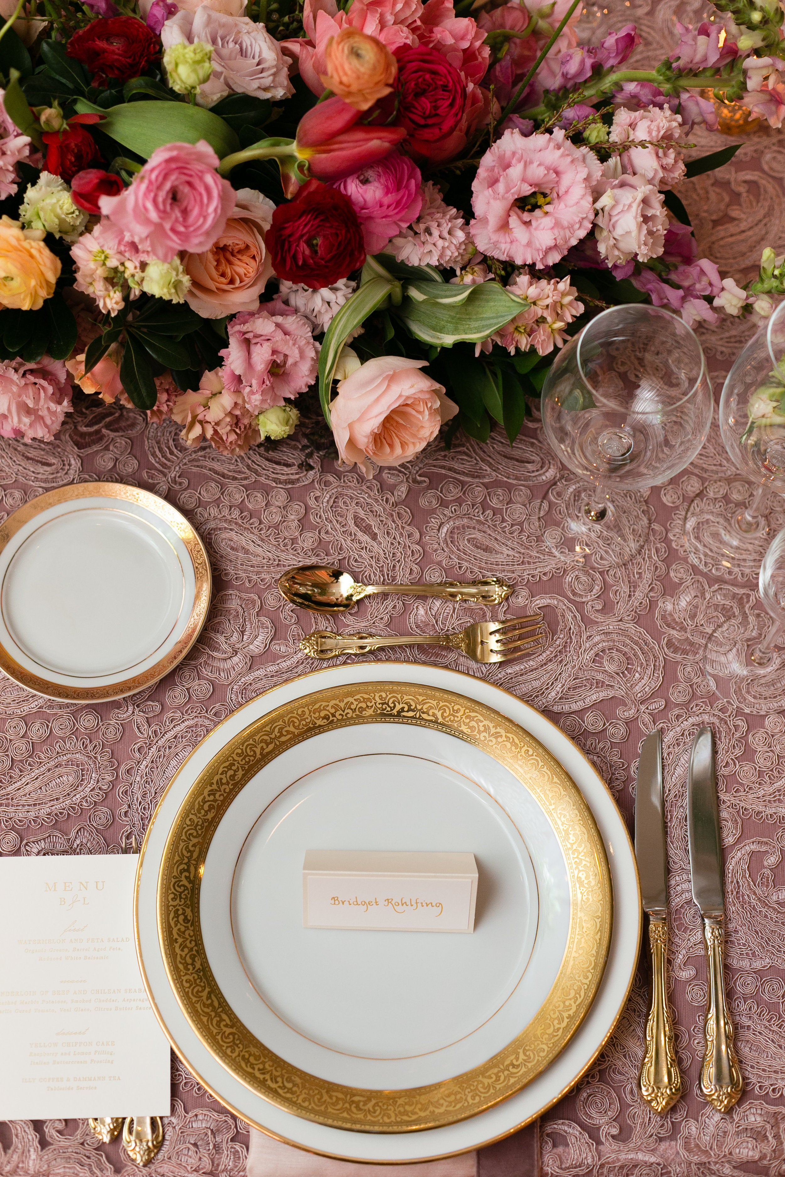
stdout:
[[643,304],[603,311],[553,361],[543,387],[545,433],[578,474],[543,500],[548,547],[597,568],[643,547],[651,508],[631,491],[684,470],[706,440],[712,391],[694,332]]

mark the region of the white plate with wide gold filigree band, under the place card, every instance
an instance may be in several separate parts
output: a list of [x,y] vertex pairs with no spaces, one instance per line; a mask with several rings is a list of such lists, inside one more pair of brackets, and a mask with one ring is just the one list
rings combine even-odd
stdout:
[[[308,849],[472,851],[474,933],[304,929]],[[612,930],[603,839],[559,762],[480,701],[394,680],[227,733],[157,892],[168,983],[209,1055],[341,1132],[428,1131],[521,1091],[591,1009]]]

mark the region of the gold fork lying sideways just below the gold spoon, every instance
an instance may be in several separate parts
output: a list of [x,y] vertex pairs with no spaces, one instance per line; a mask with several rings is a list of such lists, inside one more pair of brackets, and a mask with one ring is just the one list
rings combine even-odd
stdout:
[[300,650],[312,658],[338,658],[340,654],[367,654],[385,646],[447,646],[460,650],[474,661],[492,663],[518,658],[532,646],[543,646],[546,636],[541,613],[534,613],[531,617],[508,617],[504,621],[477,621],[457,633],[426,637],[417,633],[395,638],[375,637],[373,633],[344,636],[330,630],[315,630],[302,639]]

